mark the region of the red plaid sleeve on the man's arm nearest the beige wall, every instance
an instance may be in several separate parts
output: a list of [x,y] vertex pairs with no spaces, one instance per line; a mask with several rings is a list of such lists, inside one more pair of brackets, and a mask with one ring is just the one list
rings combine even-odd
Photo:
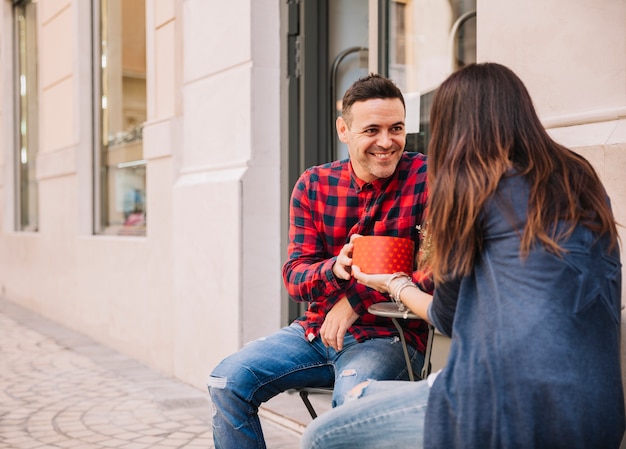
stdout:
[[333,273],[336,256],[328,257],[311,213],[308,172],[293,189],[289,210],[289,247],[283,282],[289,297],[298,302],[328,298],[346,285]]

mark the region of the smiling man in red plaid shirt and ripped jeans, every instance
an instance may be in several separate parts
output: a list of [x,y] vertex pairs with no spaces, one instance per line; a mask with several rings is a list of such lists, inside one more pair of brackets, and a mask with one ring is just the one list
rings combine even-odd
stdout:
[[[308,169],[291,197],[288,260],[292,299],[305,316],[224,359],[208,387],[217,449],[264,448],[262,402],[292,388],[331,387],[333,406],[367,379],[408,379],[397,330],[367,308],[387,295],[350,276],[350,237],[393,235],[418,241],[426,208],[426,162],[405,153],[405,104],[390,80],[369,75],[343,97],[337,119],[349,159]],[[421,370],[427,326],[404,323],[414,370]]]

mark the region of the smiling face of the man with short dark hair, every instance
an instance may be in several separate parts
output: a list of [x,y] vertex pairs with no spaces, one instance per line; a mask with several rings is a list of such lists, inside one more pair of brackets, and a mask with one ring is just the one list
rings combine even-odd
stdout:
[[375,98],[352,105],[349,125],[337,119],[339,140],[348,146],[354,173],[365,182],[388,178],[406,142],[405,111],[398,98]]

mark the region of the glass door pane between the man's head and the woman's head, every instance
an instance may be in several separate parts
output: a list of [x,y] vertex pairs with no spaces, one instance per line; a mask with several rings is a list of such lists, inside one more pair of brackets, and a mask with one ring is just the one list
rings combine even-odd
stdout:
[[389,77],[407,102],[407,150],[426,153],[430,104],[452,72],[476,62],[476,0],[389,0]]

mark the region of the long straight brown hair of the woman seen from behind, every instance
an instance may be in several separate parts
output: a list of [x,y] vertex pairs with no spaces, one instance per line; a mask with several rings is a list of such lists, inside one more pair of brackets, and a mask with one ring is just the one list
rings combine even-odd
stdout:
[[[481,211],[511,168],[530,188],[521,256],[536,242],[560,254],[559,241],[579,223],[617,244],[596,172],[550,138],[510,69],[471,64],[450,75],[435,93],[430,123],[429,264],[435,281],[470,273],[482,247]],[[559,220],[569,223],[564,235],[556,235]]]

